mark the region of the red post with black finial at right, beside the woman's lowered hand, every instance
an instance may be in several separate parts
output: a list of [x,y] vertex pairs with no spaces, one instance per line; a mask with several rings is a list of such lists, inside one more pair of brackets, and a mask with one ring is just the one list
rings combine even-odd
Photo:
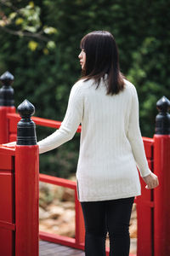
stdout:
[[170,102],[162,97],[156,104],[154,136],[154,173],[159,187],[154,190],[154,256],[170,255]]

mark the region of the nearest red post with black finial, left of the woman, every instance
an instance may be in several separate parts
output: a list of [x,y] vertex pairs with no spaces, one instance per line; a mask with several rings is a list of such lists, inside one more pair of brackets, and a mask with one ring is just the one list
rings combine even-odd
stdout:
[[25,101],[18,111],[22,119],[15,152],[15,255],[38,256],[39,153],[35,124],[30,119],[34,107]]

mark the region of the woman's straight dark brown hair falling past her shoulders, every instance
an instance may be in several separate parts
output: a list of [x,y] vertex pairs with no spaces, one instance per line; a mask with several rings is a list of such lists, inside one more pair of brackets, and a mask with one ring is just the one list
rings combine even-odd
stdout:
[[82,79],[100,79],[107,74],[107,94],[118,94],[124,89],[123,75],[119,67],[119,55],[115,38],[107,31],[94,31],[82,38],[80,48],[86,53]]

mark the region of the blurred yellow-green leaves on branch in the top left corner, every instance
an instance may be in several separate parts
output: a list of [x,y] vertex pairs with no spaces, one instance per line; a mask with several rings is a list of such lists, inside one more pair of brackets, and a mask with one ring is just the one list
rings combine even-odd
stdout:
[[[26,1],[25,4],[22,3],[21,7],[20,0],[16,1],[16,3],[0,0],[0,5],[3,6],[0,29],[18,37],[37,39],[37,41],[31,40],[27,44],[28,48],[35,51],[36,49],[43,47],[43,53],[48,54],[48,49],[54,49],[55,43],[44,35],[54,34],[57,30],[53,26],[42,26],[42,21],[40,19],[41,8],[35,5],[33,1],[29,3]],[[44,46],[42,42],[46,42],[46,46]]]

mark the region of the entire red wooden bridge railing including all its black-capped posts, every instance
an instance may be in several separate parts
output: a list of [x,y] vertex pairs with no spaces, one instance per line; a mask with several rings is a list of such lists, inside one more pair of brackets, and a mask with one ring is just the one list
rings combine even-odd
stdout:
[[[14,77],[4,73],[0,90],[0,143],[17,138],[15,148],[0,146],[0,254],[5,256],[38,255],[38,148],[35,129],[30,117],[34,109],[30,102],[23,102],[20,115],[14,108]],[[137,256],[167,256],[170,254],[170,102],[162,97],[157,102],[156,134],[153,138],[143,137],[144,149],[150,170],[159,177],[159,188],[145,189],[141,179],[142,195],[135,199],[137,204],[138,248]],[[22,117],[20,121],[20,116]],[[25,122],[26,119],[26,122]],[[30,119],[30,122],[28,122]],[[32,117],[36,125],[59,128],[60,122]],[[21,123],[20,123],[21,122]],[[30,126],[26,128],[26,124]],[[24,125],[23,125],[24,124]],[[18,131],[17,131],[18,125]],[[24,127],[24,128],[23,128]],[[29,130],[29,138],[24,129]],[[25,130],[26,130],[25,129]],[[81,131],[81,127],[77,132]],[[84,248],[84,226],[82,209],[77,200],[75,182],[40,174],[45,183],[74,189],[76,211],[75,238],[48,234],[40,231],[39,237],[66,246]],[[33,239],[31,239],[33,238]],[[107,255],[109,255],[107,250]]]

